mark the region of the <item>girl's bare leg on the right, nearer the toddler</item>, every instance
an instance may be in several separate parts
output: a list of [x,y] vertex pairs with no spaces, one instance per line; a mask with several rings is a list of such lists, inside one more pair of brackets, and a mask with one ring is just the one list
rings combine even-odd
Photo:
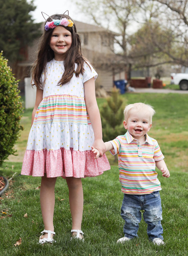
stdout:
[[[72,229],[81,230],[84,204],[81,178],[67,177],[66,181],[69,189],[69,204],[72,216]],[[74,233],[72,235],[74,236]],[[80,238],[82,238],[81,234]]]

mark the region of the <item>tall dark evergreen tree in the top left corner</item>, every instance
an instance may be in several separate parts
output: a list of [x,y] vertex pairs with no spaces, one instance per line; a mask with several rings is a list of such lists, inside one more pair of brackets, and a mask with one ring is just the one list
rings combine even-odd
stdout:
[[34,1],[0,0],[0,6],[0,51],[10,62],[25,60],[28,45],[41,34],[30,14]]

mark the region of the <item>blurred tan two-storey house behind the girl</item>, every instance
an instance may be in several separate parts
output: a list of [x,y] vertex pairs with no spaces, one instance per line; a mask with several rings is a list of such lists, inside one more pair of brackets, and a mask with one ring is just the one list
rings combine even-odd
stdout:
[[[75,25],[81,37],[82,53],[98,73],[96,88],[102,86],[105,90],[111,91],[114,80],[126,79],[126,60],[113,53],[114,38],[119,34],[79,21],[75,21]],[[41,33],[43,28],[44,24],[41,26]],[[20,68],[23,69],[22,76],[24,77],[30,76],[30,67],[36,58],[38,41],[39,38],[34,41],[32,47],[28,47],[27,61],[19,63]]]

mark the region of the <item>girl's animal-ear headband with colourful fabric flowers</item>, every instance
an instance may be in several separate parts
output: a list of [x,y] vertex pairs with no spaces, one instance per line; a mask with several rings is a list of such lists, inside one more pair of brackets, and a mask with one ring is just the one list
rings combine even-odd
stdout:
[[[68,12],[68,10],[66,11],[66,12]],[[64,12],[63,14],[62,14],[62,16],[66,13],[66,12]],[[44,15],[43,15],[43,13],[44,14],[46,14],[45,12],[41,12],[42,13],[42,16],[43,16],[43,18],[44,18]],[[46,14],[48,17],[50,17],[48,14]],[[61,16],[61,17],[62,17]],[[50,17],[51,18],[51,17]],[[44,18],[45,19],[45,18]],[[46,19],[45,19],[46,20]],[[73,24],[74,24],[74,22],[71,20],[71,19],[66,19],[66,18],[62,18],[62,19],[53,19],[53,18],[51,18],[51,20],[52,21],[47,21],[46,20],[46,24],[45,24],[45,26],[44,26],[44,29],[47,31],[47,30],[49,30],[49,29],[53,29],[53,28],[55,28],[56,26],[58,26],[58,25],[61,25],[61,26],[65,26],[65,27],[72,27],[73,26]]]

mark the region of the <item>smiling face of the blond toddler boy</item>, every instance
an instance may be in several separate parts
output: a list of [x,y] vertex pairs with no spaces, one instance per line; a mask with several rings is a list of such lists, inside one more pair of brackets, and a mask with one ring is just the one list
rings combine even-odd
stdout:
[[130,110],[129,117],[123,121],[125,129],[131,133],[133,138],[145,141],[145,135],[150,130],[152,124],[150,124],[150,114],[137,111],[134,109]]

